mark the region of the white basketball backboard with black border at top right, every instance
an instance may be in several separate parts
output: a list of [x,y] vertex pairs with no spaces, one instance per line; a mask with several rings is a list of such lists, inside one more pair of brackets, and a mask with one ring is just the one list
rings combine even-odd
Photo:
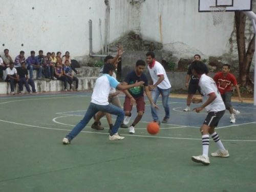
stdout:
[[252,0],[199,0],[199,12],[210,12],[210,7],[226,7],[225,11],[251,11]]

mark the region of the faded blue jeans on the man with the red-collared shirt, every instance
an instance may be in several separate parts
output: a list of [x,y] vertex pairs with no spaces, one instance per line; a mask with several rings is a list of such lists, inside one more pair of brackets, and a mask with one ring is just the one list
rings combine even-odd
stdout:
[[[157,99],[159,97],[159,95],[161,94],[162,96],[162,104],[163,104],[163,108],[164,108],[164,111],[165,111],[165,118],[169,118],[170,117],[170,110],[169,110],[169,105],[168,105],[168,99],[169,99],[169,94],[170,94],[170,91],[172,90],[172,88],[169,88],[169,89],[160,89],[158,87],[156,87],[152,92],[152,99],[154,101],[154,103],[157,102]],[[155,108],[153,108],[151,106],[151,114],[152,114],[152,117],[153,117],[153,120],[154,121],[159,121],[159,117],[157,115],[157,110]]]

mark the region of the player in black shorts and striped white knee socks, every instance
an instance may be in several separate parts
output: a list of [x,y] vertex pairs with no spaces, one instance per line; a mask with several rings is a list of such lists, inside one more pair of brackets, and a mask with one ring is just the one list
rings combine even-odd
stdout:
[[224,115],[226,108],[214,79],[204,74],[205,68],[203,63],[201,61],[194,61],[191,63],[191,69],[193,75],[199,78],[199,86],[203,96],[203,99],[193,98],[192,102],[199,103],[204,100],[204,103],[194,110],[199,113],[205,108],[208,113],[203,125],[200,128],[202,134],[203,154],[199,156],[192,156],[191,159],[197,163],[209,165],[209,135],[212,139],[214,139],[219,148],[218,151],[211,153],[211,156],[229,157],[228,151],[223,146],[219,135],[215,132],[215,127],[218,126],[218,123],[221,117]]

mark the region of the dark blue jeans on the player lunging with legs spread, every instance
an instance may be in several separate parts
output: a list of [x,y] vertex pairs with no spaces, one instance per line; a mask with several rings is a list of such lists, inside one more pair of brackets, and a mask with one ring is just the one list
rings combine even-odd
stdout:
[[117,115],[116,122],[111,129],[110,135],[116,134],[123,120],[124,111],[113,104],[99,105],[91,102],[83,119],[73,128],[66,138],[72,140],[74,137],[76,137],[98,111]]

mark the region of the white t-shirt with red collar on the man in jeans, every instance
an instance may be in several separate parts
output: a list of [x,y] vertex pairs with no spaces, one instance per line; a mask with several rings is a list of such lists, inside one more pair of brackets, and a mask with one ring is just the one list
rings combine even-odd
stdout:
[[164,80],[160,84],[158,84],[157,87],[159,87],[160,89],[169,89],[172,87],[170,85],[170,81],[166,75],[166,72],[160,62],[155,61],[154,67],[150,69],[150,66],[147,66],[147,69],[150,72],[150,76],[154,84],[158,81],[159,75],[164,76]]

